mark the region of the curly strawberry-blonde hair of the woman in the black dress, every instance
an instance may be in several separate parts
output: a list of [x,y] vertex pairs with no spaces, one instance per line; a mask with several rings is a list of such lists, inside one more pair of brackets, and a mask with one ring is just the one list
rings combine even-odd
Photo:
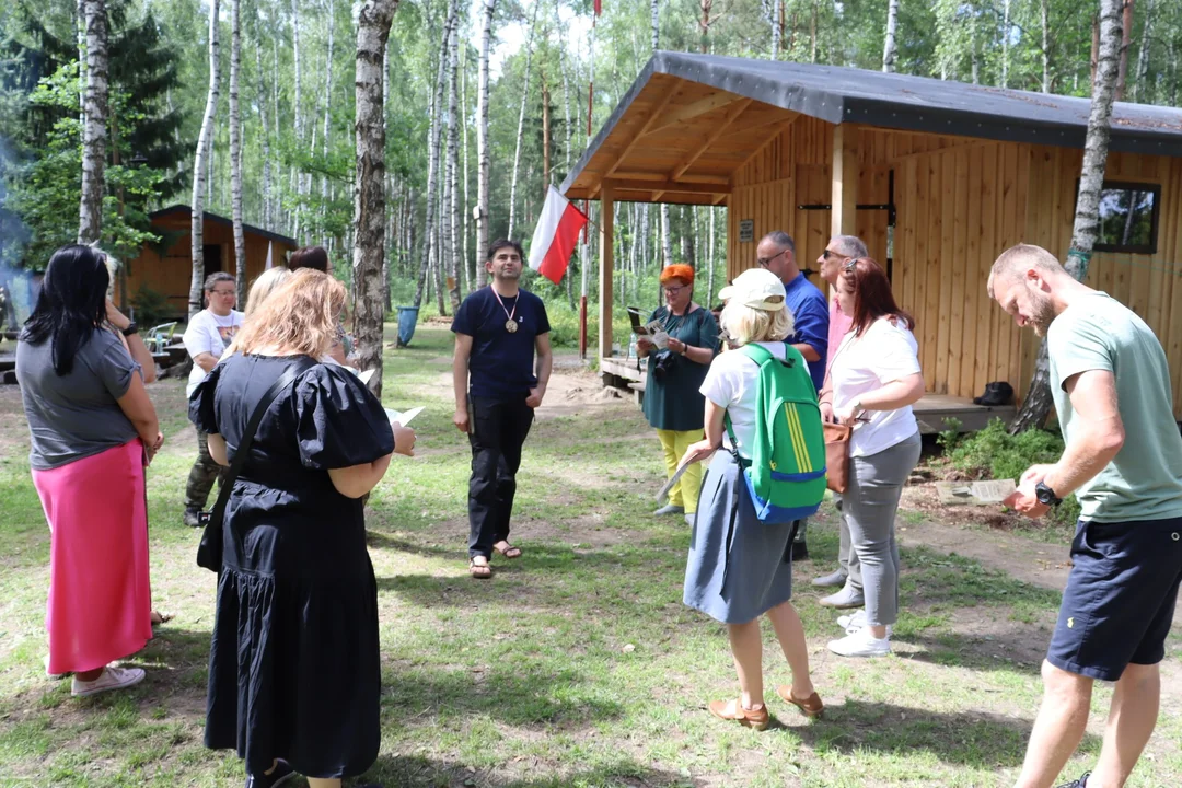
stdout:
[[235,337],[240,353],[324,356],[337,337],[345,286],[329,274],[301,268],[262,301]]

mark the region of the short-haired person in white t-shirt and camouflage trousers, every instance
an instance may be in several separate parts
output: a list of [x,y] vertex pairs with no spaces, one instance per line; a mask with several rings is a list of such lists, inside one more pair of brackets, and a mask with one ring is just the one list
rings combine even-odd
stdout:
[[[242,313],[234,308],[238,304],[238,287],[234,276],[226,272],[209,274],[206,278],[206,308],[189,319],[184,330],[184,349],[193,359],[193,371],[189,372],[189,385],[184,396],[193,395],[197,384],[206,379],[217,359],[234,341],[234,334],[242,326]],[[209,447],[204,432],[197,431],[197,458],[189,470],[189,481],[184,487],[184,525],[200,526],[199,515],[209,499],[209,490],[225,469],[209,456]]]

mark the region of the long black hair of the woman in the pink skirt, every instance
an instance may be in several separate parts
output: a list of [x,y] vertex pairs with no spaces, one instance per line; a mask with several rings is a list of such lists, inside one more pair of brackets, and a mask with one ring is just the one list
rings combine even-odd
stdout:
[[106,319],[106,258],[89,246],[71,243],[50,258],[33,314],[21,341],[52,345],[53,371],[70,375],[73,359]]

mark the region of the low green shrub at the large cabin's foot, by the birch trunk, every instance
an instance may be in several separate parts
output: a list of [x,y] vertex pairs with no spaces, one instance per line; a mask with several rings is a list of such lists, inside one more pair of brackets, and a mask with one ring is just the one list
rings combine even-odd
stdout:
[[[995,418],[983,430],[962,438],[949,460],[954,468],[973,476],[1018,481],[1031,465],[1053,463],[1061,454],[1063,438],[1058,435],[1046,430],[1009,435],[1005,422]],[[1074,522],[1079,519],[1079,501],[1067,496],[1047,517],[1058,523]]]

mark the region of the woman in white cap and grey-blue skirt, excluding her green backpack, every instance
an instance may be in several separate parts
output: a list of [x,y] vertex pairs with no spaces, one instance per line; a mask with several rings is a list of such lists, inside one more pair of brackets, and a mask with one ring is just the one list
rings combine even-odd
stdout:
[[[719,297],[722,332],[728,344],[756,343],[774,357],[794,357],[794,369],[808,383],[800,352],[786,343],[792,314],[784,302],[784,284],[762,268],[746,271]],[[686,605],[727,625],[741,693],[736,701],[714,701],[710,712],[722,719],[764,730],[771,716],[764,705],[762,653],[759,618],[772,621],[780,649],[792,669],[792,683],[777,688],[788,703],[808,717],[824,709],[808,675],[808,651],[792,598],[793,523],[759,521],[733,451],[751,458],[755,439],[759,366],[738,350],[716,356],[702,383],[706,397],[706,439],[694,443],[682,463],[714,455],[699,499],[686,565]],[[738,445],[723,436],[723,416],[730,416]],[[717,449],[723,451],[716,451]]]

